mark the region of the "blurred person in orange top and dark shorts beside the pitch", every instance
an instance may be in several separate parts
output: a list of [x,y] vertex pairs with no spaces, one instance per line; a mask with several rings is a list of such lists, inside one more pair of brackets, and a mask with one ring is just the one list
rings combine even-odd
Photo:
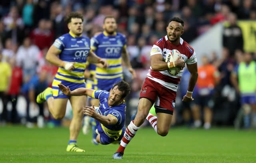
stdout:
[[195,97],[195,105],[192,108],[194,116],[194,126],[200,127],[201,109],[204,110],[204,128],[211,128],[212,124],[212,108],[214,106],[212,95],[214,88],[219,80],[219,72],[212,64],[209,63],[207,56],[202,57],[202,66],[198,67],[197,88],[198,94]]

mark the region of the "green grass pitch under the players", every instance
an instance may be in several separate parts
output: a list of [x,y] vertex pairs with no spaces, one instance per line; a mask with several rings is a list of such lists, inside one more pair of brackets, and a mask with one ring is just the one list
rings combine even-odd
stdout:
[[118,145],[94,145],[80,133],[84,153],[66,152],[68,128],[0,127],[0,163],[256,163],[256,130],[172,128],[166,137],[138,130],[123,160]]

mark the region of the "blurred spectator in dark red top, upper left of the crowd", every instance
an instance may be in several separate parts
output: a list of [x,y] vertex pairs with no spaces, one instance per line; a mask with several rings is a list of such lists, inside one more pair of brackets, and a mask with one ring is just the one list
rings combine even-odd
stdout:
[[36,45],[40,50],[49,48],[54,41],[54,33],[52,33],[51,22],[49,20],[42,19],[38,23],[38,27],[30,33],[30,39],[32,44]]

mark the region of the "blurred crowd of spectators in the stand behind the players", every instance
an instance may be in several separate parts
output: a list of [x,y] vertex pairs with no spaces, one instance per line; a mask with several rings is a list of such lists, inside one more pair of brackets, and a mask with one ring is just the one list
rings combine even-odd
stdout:
[[[228,22],[223,29],[223,50],[205,54],[207,64],[214,68],[210,108],[210,122],[214,125],[233,125],[240,109],[239,92],[230,81],[234,67],[243,59],[243,37],[236,20],[256,20],[254,0],[10,0],[0,2],[0,72],[10,76],[10,86],[4,88],[0,79],[0,97],[4,104],[12,102],[16,107],[18,96],[25,97],[27,107],[35,107],[36,95],[51,86],[57,67],[45,61],[48,48],[60,35],[68,32],[64,18],[72,11],[84,15],[84,35],[92,37],[102,31],[105,16],[112,15],[118,23],[118,31],[127,37],[127,49],[132,67],[138,78],[130,81],[132,93],[128,97],[126,118],[138,104],[138,92],[148,68],[150,51],[154,42],[166,35],[166,25],[173,16],[185,21],[182,38],[190,43],[218,22]],[[196,49],[195,49],[196,50]],[[220,57],[218,57],[220,56]],[[256,53],[254,53],[256,59]],[[5,63],[5,64],[4,64]],[[10,68],[6,68],[6,64]],[[3,68],[4,67],[4,68]],[[3,70],[6,70],[2,72]],[[186,72],[186,71],[185,71]],[[11,74],[11,75],[9,75]],[[185,75],[185,73],[184,73]],[[199,74],[200,75],[200,74]],[[184,77],[183,77],[184,78]],[[186,78],[184,78],[186,79]],[[7,79],[6,79],[7,80]],[[182,85],[183,84],[183,85]],[[203,117],[192,104],[182,104],[186,81],[180,83],[174,124],[200,126]],[[200,86],[199,86],[200,87]],[[197,98],[197,95],[193,95]],[[200,97],[198,97],[200,100]],[[19,106],[17,106],[19,107]],[[44,105],[40,105],[43,110]],[[20,123],[18,113],[2,112],[0,121]],[[186,111],[187,110],[187,111]],[[204,112],[207,112],[204,110]],[[27,122],[46,120],[44,111],[31,117],[27,109]],[[208,116],[209,116],[208,114]],[[6,119],[3,119],[4,115]],[[196,118],[197,117],[197,118]],[[49,117],[48,117],[49,118]],[[206,118],[206,119],[205,119]],[[196,121],[196,119],[198,119]],[[199,122],[200,121],[200,122]],[[201,122],[202,121],[202,122]],[[40,126],[40,124],[39,124]],[[207,126],[204,126],[207,128]]]

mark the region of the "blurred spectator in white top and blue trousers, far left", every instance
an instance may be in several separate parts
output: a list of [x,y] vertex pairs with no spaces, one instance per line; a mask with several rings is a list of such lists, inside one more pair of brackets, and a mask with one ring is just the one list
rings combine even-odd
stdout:
[[16,55],[18,66],[22,67],[24,83],[28,82],[30,78],[36,74],[38,54],[38,47],[32,45],[30,38],[26,37],[23,41],[23,45],[18,48]]

